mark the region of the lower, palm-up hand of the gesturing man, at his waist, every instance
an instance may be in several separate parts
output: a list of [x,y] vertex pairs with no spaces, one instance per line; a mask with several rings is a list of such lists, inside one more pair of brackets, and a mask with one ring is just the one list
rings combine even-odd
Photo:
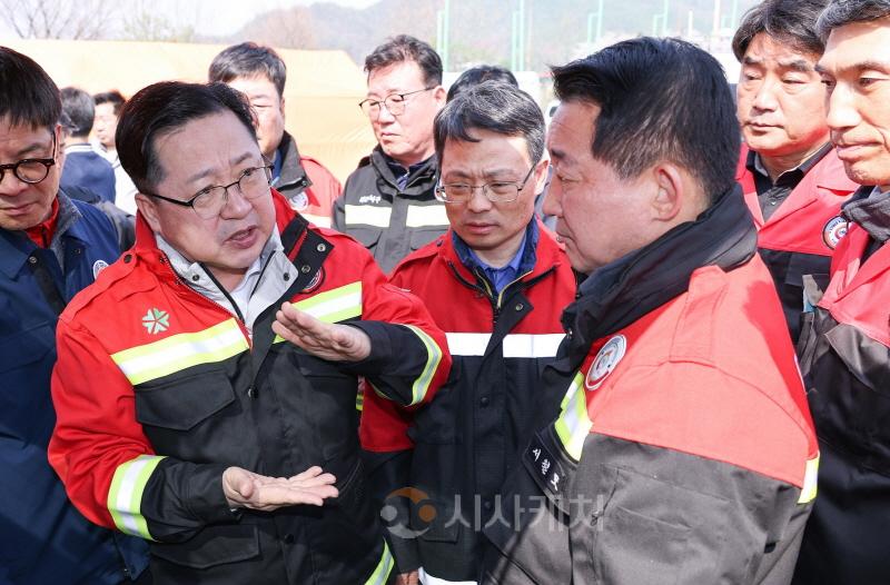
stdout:
[[268,477],[229,467],[222,473],[222,492],[233,508],[270,512],[298,504],[322,506],[326,498],[337,497],[334,482],[333,475],[317,466],[291,477]]

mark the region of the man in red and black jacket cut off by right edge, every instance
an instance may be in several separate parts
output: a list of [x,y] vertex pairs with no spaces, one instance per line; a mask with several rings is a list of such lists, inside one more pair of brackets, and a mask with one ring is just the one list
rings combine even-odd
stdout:
[[843,206],[850,231],[824,296],[808,287],[811,313],[799,347],[822,462],[794,583],[888,583],[890,2],[831,2],[819,30],[831,140],[862,187]]

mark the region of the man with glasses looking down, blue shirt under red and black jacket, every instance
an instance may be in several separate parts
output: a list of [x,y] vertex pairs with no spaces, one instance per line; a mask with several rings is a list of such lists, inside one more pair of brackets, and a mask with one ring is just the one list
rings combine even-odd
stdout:
[[[482,527],[500,513],[516,453],[547,420],[542,413],[558,412],[561,396],[547,399],[538,386],[564,337],[560,315],[574,299],[575,278],[534,215],[547,173],[534,100],[505,82],[465,88],[436,117],[434,137],[436,196],[451,229],[403,260],[392,281],[424,301],[455,366],[416,417],[366,393],[360,430],[372,458],[385,460],[384,495],[396,493],[385,514],[409,504],[397,490],[406,485],[435,507],[426,520],[406,522],[409,509],[389,518],[399,572],[423,566],[427,579],[451,583],[475,579]],[[414,440],[405,434],[411,420]]]

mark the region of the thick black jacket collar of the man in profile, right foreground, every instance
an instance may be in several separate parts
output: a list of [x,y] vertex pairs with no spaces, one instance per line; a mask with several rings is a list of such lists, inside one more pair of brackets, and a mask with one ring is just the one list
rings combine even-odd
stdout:
[[689,289],[704,266],[724,271],[756,252],[756,230],[741,187],[721,194],[695,221],[676,226],[655,241],[594,270],[578,299],[563,313],[568,357],[576,367],[599,338],[622,329]]

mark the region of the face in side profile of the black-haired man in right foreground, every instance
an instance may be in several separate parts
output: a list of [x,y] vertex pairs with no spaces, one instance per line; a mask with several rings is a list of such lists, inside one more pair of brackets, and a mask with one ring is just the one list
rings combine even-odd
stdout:
[[564,101],[547,132],[553,177],[544,214],[556,217],[556,234],[572,267],[584,274],[654,239],[646,225],[653,189],[649,179],[622,179],[593,157],[599,115],[594,103]]

